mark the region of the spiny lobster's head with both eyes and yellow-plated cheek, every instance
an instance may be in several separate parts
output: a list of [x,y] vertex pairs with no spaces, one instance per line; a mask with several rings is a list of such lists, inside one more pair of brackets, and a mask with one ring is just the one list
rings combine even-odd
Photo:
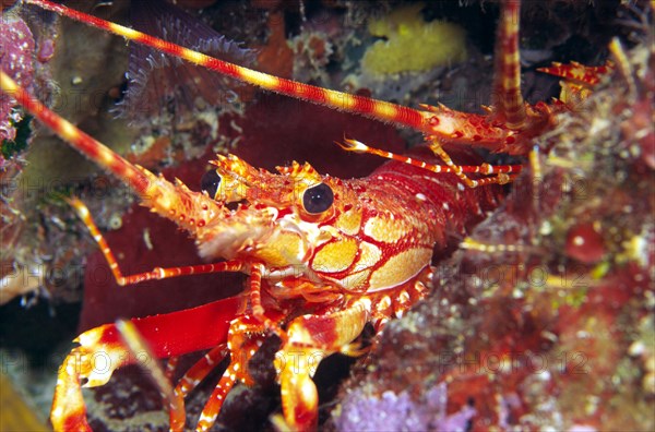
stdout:
[[393,193],[405,193],[402,185],[341,180],[298,163],[273,173],[235,155],[212,165],[202,192],[151,175],[144,205],[190,231],[205,260],[261,264],[283,288],[278,296],[385,289],[430,261],[436,239],[426,206],[415,199],[410,211],[398,208]]

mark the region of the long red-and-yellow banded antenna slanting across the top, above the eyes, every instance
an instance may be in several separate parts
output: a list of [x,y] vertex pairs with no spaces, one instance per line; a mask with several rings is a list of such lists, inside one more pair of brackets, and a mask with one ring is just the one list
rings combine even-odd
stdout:
[[359,113],[419,130],[422,129],[425,121],[432,117],[431,113],[388,101],[321,88],[293,80],[281,79],[267,73],[258,72],[238,64],[218,60],[216,58],[203,55],[202,52],[198,52],[157,37],[146,35],[135,29],[115,24],[86,13],[75,11],[73,9],[69,9],[62,4],[57,4],[48,0],[25,0],[25,3],[38,5],[48,11],[68,16],[71,20],[88,24],[91,26],[110,32],[115,35],[122,36],[128,40],[148,46],[160,52],[165,52],[184,59],[191,63],[202,65],[223,75],[227,75],[245,83],[297,99],[302,99],[335,108],[341,111]]

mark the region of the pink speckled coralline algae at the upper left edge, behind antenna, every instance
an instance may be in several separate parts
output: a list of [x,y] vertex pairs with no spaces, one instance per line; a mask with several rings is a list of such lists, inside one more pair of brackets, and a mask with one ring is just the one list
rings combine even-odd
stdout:
[[[20,17],[2,16],[0,26],[0,68],[19,85],[31,91],[34,81],[34,37],[27,24]],[[14,103],[0,95],[0,140],[12,141],[16,131],[14,124],[21,118],[12,112]]]

